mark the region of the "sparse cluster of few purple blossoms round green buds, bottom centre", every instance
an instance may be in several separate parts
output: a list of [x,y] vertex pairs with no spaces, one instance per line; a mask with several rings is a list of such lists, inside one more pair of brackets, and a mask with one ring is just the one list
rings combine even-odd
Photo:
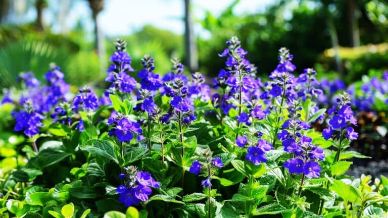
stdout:
[[212,175],[211,167],[222,168],[224,163],[219,157],[212,157],[213,152],[209,148],[204,148],[201,151],[200,161],[195,160],[191,163],[190,173],[199,175],[202,170],[206,170],[206,179],[202,181],[203,187],[211,187],[210,177]]

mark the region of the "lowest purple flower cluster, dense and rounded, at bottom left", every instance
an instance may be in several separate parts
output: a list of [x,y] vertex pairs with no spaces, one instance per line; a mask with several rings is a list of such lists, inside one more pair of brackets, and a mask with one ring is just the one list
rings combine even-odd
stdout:
[[137,171],[136,167],[129,166],[125,168],[126,174],[120,174],[124,185],[117,187],[117,193],[120,195],[120,203],[126,207],[138,204],[142,201],[148,201],[153,188],[159,188],[160,183],[156,182],[150,173]]

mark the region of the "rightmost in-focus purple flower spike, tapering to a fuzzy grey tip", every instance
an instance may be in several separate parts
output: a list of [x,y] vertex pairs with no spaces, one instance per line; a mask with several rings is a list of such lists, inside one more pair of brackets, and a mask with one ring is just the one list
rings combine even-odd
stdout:
[[328,115],[332,115],[332,117],[328,122],[329,127],[322,132],[324,139],[328,140],[337,136],[342,137],[344,134],[349,140],[357,139],[358,133],[351,127],[351,125],[357,125],[351,105],[347,92],[337,98],[337,104],[328,110]]

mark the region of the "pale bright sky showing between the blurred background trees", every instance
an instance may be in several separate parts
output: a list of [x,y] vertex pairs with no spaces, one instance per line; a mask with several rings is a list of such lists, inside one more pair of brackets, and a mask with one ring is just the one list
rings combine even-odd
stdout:
[[[49,1],[49,5],[53,7],[56,1],[58,0]],[[191,0],[196,19],[204,18],[207,10],[213,15],[219,15],[232,2],[233,0]],[[234,12],[239,15],[263,12],[275,2],[277,0],[241,0]],[[107,36],[127,35],[147,24],[182,34],[183,10],[183,0],[105,0],[105,8],[100,13],[99,21],[103,33]],[[52,13],[46,12],[47,22],[53,22],[53,18]],[[71,28],[79,20],[87,31],[92,32],[93,24],[87,1],[81,0],[74,4],[66,24]],[[55,26],[53,30],[56,31]],[[196,26],[195,32],[205,34],[200,26]]]

